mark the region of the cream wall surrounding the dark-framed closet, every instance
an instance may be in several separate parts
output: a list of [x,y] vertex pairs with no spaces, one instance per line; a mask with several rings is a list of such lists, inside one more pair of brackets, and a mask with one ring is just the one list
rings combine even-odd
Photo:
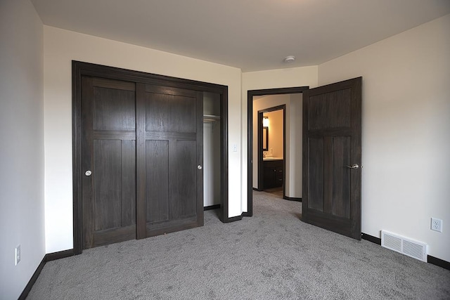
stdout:
[[240,69],[44,26],[47,253],[73,247],[71,60],[229,86],[229,216],[241,214]]

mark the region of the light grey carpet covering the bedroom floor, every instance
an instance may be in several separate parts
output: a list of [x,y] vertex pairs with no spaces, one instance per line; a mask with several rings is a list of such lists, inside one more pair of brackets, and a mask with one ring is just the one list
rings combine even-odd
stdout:
[[27,299],[450,299],[450,271],[302,223],[254,193],[254,216],[50,261]]

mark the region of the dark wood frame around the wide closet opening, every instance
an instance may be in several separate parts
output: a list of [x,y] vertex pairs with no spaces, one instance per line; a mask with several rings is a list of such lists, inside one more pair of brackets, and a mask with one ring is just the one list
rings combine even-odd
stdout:
[[72,193],[73,193],[73,252],[82,253],[82,76],[102,77],[144,84],[164,84],[193,91],[207,91],[220,95],[220,147],[221,147],[221,203],[219,218],[228,221],[229,171],[228,171],[228,86],[202,81],[151,74],[118,67],[108,67],[72,60]]

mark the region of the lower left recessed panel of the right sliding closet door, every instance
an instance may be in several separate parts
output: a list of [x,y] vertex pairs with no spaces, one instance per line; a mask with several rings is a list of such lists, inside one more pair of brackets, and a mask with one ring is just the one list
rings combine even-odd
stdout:
[[169,220],[169,141],[146,141],[147,223]]

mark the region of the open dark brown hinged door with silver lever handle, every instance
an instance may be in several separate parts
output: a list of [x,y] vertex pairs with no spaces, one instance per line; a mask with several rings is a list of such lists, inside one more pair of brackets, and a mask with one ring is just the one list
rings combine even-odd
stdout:
[[304,91],[302,221],[361,240],[362,77]]

